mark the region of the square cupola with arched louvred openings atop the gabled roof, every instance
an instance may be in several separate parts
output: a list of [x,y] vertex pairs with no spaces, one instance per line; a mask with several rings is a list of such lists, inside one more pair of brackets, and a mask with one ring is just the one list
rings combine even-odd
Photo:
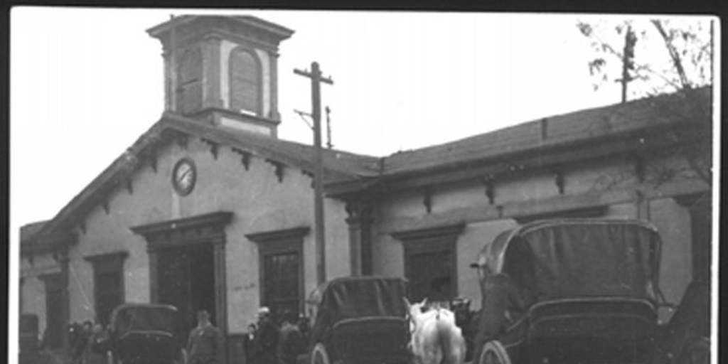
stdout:
[[251,16],[183,15],[147,33],[162,41],[166,111],[277,137],[278,45],[293,31]]

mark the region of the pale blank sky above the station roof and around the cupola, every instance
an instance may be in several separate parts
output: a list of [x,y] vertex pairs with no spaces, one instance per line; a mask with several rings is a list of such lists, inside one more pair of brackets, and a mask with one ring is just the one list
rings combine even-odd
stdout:
[[[10,235],[53,218],[162,114],[170,15],[255,15],[293,29],[280,45],[280,138],[311,143],[317,61],[337,149],[383,156],[620,100],[593,90],[591,15],[16,7],[11,12]],[[665,54],[666,55],[666,54]],[[665,56],[656,53],[655,56]]]

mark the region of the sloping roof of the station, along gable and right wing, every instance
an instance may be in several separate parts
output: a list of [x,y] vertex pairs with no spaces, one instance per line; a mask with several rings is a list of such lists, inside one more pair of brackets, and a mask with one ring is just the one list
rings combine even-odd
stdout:
[[[708,88],[700,91],[701,97],[709,97]],[[657,96],[660,102],[671,103],[679,103],[681,97],[683,96],[680,94]],[[439,170],[503,159],[511,154],[542,152],[554,147],[590,143],[599,138],[618,137],[628,132],[646,130],[660,122],[672,122],[659,119],[663,116],[658,117],[655,114],[657,98],[551,116],[451,143],[398,152],[384,158],[325,149],[324,179],[326,184],[354,183],[354,188],[360,189],[368,183],[382,179],[404,178],[411,174],[426,175]],[[138,141],[63,207],[55,218],[44,223],[39,228],[41,234],[59,228],[71,228],[75,218],[98,205],[100,199],[129,178],[140,165],[139,160],[143,159],[149,147],[157,143],[168,130],[196,135],[223,146],[300,168],[306,173],[314,172],[313,146],[203,124],[176,114],[164,114],[149,131],[141,135]],[[35,228],[37,226],[28,227],[26,234]]]

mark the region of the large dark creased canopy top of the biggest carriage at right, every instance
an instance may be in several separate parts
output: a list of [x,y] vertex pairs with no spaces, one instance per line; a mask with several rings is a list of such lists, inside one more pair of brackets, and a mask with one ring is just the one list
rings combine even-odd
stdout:
[[499,234],[472,265],[505,273],[539,301],[590,296],[655,301],[660,237],[642,221],[538,221]]

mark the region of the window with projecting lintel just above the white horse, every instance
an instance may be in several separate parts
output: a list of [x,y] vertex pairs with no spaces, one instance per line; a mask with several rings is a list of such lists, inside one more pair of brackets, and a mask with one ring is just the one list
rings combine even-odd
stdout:
[[457,296],[456,240],[464,224],[396,232],[403,242],[412,301],[448,302]]

